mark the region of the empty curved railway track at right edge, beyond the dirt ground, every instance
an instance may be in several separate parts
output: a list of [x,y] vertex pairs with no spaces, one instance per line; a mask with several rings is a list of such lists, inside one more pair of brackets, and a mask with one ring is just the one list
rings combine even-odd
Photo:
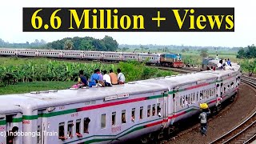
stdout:
[[[241,82],[244,82],[256,89],[256,78],[242,76]],[[256,108],[234,129],[215,139],[212,143],[250,143],[256,139]]]

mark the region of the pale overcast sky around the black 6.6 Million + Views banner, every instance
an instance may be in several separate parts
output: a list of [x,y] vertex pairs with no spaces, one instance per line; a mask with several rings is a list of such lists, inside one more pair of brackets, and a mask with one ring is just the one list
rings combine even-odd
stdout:
[[[234,32],[22,32],[22,7],[234,7]],[[0,5],[0,38],[8,42],[46,42],[66,38],[104,38],[119,44],[248,46],[256,42],[253,0],[6,0]]]

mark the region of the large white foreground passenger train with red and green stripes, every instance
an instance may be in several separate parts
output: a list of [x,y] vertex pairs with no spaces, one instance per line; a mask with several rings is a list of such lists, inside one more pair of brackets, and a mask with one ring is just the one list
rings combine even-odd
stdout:
[[[200,103],[218,110],[234,98],[241,74],[238,64],[232,68],[111,87],[2,95],[0,133],[17,126],[15,144],[120,143],[132,138],[150,142],[198,114]],[[6,138],[0,137],[4,143]]]

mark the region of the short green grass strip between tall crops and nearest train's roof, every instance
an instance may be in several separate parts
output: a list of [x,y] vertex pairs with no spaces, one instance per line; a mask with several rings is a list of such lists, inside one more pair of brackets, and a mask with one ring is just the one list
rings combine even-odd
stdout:
[[31,91],[42,90],[63,90],[74,85],[75,82],[18,82],[17,85],[9,85],[0,87],[0,95],[2,94],[24,94]]

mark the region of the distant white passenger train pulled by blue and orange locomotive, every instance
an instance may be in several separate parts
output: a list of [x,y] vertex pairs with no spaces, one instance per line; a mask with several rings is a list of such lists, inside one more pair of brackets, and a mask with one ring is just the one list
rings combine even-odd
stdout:
[[145,62],[157,66],[183,67],[181,54],[148,54],[110,51],[83,50],[33,50],[33,49],[0,49],[0,56],[47,57],[47,58],[78,58],[99,61]]

